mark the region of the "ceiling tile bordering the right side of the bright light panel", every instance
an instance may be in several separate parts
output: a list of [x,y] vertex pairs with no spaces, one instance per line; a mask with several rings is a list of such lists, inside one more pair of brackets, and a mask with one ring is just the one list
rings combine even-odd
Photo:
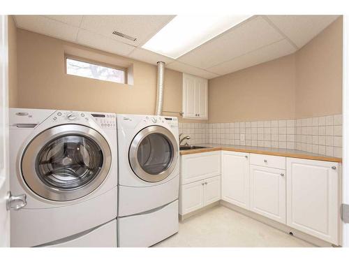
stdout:
[[281,39],[283,36],[258,16],[238,24],[221,36],[184,54],[178,60],[205,69]]

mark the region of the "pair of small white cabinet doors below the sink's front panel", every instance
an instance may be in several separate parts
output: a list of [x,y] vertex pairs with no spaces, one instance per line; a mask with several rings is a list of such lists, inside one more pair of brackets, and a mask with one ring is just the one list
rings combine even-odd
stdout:
[[179,214],[184,215],[221,199],[221,176],[184,184],[179,194]]

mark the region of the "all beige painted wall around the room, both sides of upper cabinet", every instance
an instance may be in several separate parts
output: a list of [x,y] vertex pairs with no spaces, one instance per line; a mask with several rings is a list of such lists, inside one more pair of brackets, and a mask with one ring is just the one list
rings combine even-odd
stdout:
[[[10,106],[154,114],[156,66],[16,30],[12,19],[9,29]],[[341,29],[339,18],[295,54],[209,80],[209,122],[341,113]],[[65,52],[133,64],[134,85],[66,75]],[[181,73],[166,69],[163,110],[181,111],[181,92]]]

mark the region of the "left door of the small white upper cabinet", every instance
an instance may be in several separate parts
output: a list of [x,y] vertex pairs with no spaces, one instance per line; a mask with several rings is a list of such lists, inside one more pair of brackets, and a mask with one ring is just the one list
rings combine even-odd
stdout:
[[183,74],[183,117],[195,118],[195,78]]

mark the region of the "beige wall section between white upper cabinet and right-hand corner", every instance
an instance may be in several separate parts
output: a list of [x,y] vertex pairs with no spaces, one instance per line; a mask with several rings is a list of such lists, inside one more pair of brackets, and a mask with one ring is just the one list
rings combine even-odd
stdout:
[[295,56],[209,80],[209,122],[287,119],[295,115]]

